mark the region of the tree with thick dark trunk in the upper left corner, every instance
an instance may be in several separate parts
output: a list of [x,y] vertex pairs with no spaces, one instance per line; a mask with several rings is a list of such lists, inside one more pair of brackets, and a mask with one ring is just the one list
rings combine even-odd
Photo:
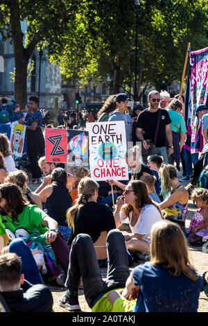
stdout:
[[[23,108],[27,101],[26,77],[28,61],[40,40],[56,51],[65,31],[73,26],[76,3],[73,0],[1,0],[0,28],[2,40],[11,38],[15,53],[15,99]],[[26,35],[21,22],[26,20]]]

